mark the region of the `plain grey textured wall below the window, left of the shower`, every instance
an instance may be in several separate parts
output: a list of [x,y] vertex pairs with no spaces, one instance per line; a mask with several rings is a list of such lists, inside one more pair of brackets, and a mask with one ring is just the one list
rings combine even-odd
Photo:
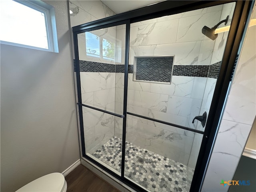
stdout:
[[1,191],[80,158],[66,1],[55,7],[59,53],[1,44]]

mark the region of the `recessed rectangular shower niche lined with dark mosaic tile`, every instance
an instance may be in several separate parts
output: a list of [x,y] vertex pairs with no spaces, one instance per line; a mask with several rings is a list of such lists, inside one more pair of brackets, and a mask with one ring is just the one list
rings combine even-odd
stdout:
[[173,56],[135,57],[136,80],[171,82]]

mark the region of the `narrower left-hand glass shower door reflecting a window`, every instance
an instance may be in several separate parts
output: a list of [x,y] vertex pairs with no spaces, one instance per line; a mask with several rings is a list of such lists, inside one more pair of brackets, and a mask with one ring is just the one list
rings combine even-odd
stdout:
[[77,37],[85,154],[121,175],[125,25]]

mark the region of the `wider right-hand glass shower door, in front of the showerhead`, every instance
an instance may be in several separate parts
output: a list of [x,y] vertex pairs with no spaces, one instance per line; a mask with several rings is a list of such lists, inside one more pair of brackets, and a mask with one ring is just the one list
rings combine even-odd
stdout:
[[190,190],[228,35],[202,28],[230,25],[234,6],[130,25],[124,176],[145,190]]

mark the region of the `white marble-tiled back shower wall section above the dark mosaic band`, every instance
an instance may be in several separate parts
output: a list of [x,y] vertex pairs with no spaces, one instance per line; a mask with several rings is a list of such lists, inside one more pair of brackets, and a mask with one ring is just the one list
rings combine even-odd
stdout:
[[218,23],[221,12],[222,5],[131,24],[129,64],[134,56],[175,55],[174,65],[210,65],[214,41],[201,29]]

